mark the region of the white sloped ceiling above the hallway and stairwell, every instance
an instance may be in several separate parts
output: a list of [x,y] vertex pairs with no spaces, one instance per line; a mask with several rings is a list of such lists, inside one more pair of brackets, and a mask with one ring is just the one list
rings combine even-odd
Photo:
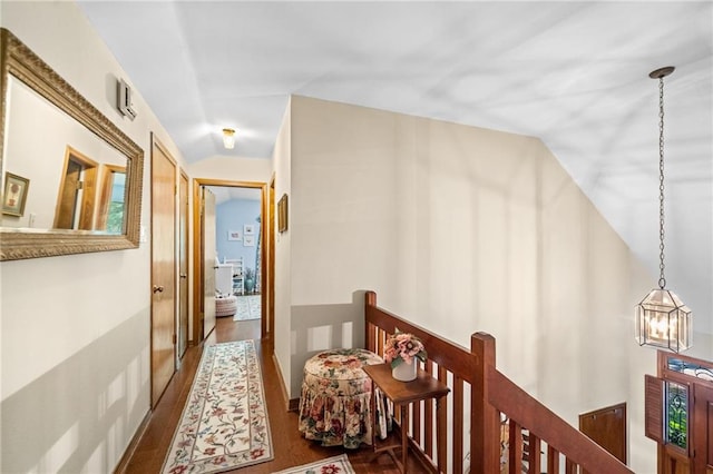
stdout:
[[[654,275],[658,85],[648,72],[675,66],[666,277],[700,315],[696,329],[713,333],[711,1],[79,6],[189,162],[270,158],[290,95],[535,136]],[[226,126],[238,130],[233,151],[222,147]]]

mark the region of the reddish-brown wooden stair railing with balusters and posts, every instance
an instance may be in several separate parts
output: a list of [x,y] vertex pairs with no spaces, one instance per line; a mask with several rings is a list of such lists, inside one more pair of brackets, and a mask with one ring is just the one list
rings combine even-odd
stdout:
[[[383,355],[387,337],[397,330],[419,337],[427,350],[423,368],[447,384],[436,419],[433,401],[410,409],[410,446],[424,465],[441,473],[632,473],[586,435],[559,418],[497,371],[495,338],[471,336],[470,350],[377,306],[365,294],[365,345]],[[443,409],[446,408],[446,409]],[[506,423],[500,419],[505,417]],[[442,440],[437,425],[448,426]],[[507,451],[507,453],[506,453]],[[507,457],[507,462],[502,457]],[[506,468],[507,471],[504,471]],[[547,471],[546,471],[547,470]]]

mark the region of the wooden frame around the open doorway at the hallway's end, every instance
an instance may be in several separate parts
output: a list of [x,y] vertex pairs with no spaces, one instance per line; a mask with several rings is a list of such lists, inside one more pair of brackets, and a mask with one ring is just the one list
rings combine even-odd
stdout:
[[[272,231],[268,227],[267,217],[268,217],[268,204],[267,204],[267,184],[262,181],[233,181],[225,179],[212,179],[212,178],[194,178],[193,179],[193,338],[192,344],[198,345],[203,342],[203,327],[202,327],[202,318],[201,318],[201,298],[203,298],[203,271],[201,270],[203,261],[202,261],[202,251],[201,248],[203,246],[203,233],[201,231],[201,186],[225,186],[232,188],[253,188],[261,190],[261,203],[260,203],[260,231],[262,233],[262,250],[260,253],[260,266],[262,268],[261,273],[261,294],[260,302],[261,308],[264,312],[267,308],[267,294],[272,294],[272,288],[267,287],[268,278],[267,274],[270,269],[267,267],[267,236],[268,231]],[[272,334],[272,330],[268,330],[266,326],[267,318],[261,317],[261,338],[265,337],[267,334]],[[271,318],[272,320],[272,318]]]

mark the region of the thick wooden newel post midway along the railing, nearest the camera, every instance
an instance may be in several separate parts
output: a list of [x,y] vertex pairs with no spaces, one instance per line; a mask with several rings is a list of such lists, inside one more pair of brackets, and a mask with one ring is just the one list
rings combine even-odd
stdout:
[[488,371],[495,369],[495,337],[487,333],[470,336],[470,352],[476,356],[476,383],[470,389],[470,472],[500,472],[500,419],[488,402]]

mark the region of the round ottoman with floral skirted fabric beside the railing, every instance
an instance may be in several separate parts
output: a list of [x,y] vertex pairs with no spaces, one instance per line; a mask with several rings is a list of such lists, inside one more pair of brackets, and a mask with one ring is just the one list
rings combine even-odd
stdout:
[[371,444],[371,378],[364,365],[383,364],[364,349],[332,349],[304,364],[300,432],[323,446]]

